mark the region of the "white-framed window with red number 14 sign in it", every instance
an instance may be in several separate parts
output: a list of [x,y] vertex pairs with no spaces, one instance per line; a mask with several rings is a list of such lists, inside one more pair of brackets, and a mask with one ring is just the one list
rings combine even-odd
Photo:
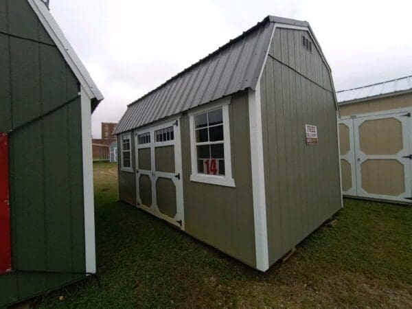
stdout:
[[234,187],[231,175],[229,102],[190,114],[191,181]]

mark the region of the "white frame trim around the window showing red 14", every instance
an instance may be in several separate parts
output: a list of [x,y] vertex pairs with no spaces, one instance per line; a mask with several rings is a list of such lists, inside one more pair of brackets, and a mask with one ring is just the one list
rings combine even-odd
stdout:
[[[197,183],[209,183],[211,185],[223,185],[226,187],[236,187],[232,177],[231,170],[231,143],[230,143],[230,123],[229,123],[229,103],[230,97],[222,98],[214,104],[207,104],[201,108],[196,108],[188,113],[190,122],[190,155],[192,161],[192,174],[190,181]],[[222,108],[223,116],[223,148],[225,153],[225,176],[198,174],[197,172],[197,154],[196,154],[196,135],[194,130],[194,116],[213,111],[216,108]]]

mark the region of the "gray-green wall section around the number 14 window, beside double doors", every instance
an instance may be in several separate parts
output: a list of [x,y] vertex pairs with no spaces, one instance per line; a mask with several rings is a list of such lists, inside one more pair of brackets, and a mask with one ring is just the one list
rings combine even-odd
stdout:
[[236,187],[190,181],[189,116],[181,118],[185,230],[198,240],[256,266],[247,91],[229,104],[231,163]]

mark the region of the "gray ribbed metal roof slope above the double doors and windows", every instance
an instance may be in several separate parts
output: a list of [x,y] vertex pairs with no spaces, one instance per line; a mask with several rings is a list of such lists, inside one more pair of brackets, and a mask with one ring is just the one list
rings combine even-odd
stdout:
[[243,89],[255,89],[275,23],[309,27],[306,21],[267,16],[216,52],[128,105],[115,130],[119,134]]

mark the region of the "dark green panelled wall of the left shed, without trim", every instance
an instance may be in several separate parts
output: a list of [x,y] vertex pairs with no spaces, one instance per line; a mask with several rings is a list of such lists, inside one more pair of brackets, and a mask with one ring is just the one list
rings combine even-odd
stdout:
[[[79,87],[26,0],[0,1],[0,31],[30,39],[0,34],[0,132],[9,132]],[[13,272],[0,275],[0,307],[84,277],[41,273],[85,271],[80,113],[78,98],[10,134]]]

